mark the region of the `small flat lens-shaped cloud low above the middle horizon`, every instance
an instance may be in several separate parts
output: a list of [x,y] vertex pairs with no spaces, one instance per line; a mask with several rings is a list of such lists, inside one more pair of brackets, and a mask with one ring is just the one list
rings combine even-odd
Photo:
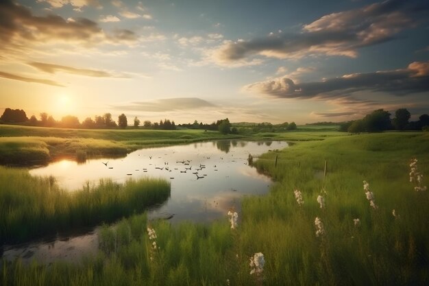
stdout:
[[197,97],[164,98],[147,102],[132,102],[132,104],[126,106],[114,106],[114,108],[118,110],[144,112],[166,112],[212,107],[215,107],[215,104],[211,104],[210,102]]

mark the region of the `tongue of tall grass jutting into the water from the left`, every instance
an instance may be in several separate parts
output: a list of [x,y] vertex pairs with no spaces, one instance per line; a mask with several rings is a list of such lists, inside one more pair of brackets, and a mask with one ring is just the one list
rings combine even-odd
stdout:
[[53,177],[0,167],[0,243],[16,243],[58,230],[112,222],[161,204],[170,196],[165,180],[142,178],[118,184],[103,179],[69,193]]

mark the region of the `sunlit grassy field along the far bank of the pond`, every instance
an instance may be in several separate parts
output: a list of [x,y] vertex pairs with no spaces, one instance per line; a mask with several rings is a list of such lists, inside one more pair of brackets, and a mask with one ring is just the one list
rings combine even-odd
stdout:
[[82,130],[0,125],[0,164],[40,165],[58,158],[84,161],[95,156],[125,156],[143,147],[216,139],[312,141],[344,135],[332,126],[302,128],[295,132],[224,135],[204,130]]

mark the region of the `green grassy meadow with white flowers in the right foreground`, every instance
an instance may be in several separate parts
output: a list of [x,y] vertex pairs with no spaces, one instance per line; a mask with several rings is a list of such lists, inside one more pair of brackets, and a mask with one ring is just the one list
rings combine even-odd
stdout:
[[[319,135],[325,140],[256,160],[276,183],[243,200],[235,229],[226,214],[210,225],[177,226],[133,216],[103,228],[96,257],[79,265],[3,263],[2,285],[428,285],[429,195],[415,191],[409,165],[418,159],[421,186],[429,186],[429,134]],[[256,252],[265,256],[258,275],[249,265]]]

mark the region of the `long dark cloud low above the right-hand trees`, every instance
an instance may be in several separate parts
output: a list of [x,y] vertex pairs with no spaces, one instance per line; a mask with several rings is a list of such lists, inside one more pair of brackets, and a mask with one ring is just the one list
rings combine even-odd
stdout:
[[256,82],[244,86],[253,91],[280,98],[332,98],[347,97],[358,91],[384,92],[393,95],[407,95],[429,91],[429,61],[412,62],[406,69],[353,73],[321,82],[297,84],[282,77]]

